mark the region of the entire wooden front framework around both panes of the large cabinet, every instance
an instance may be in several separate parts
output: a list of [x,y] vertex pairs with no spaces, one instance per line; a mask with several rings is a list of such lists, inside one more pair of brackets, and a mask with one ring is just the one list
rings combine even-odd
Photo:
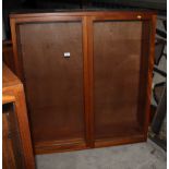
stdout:
[[[149,58],[148,58],[148,76],[146,88],[146,117],[144,124],[144,135],[136,137],[128,137],[116,141],[101,141],[95,143],[95,116],[94,116],[94,35],[93,23],[95,21],[148,21],[150,26],[149,35]],[[57,12],[57,13],[32,13],[32,14],[11,14],[11,32],[12,44],[14,52],[14,64],[17,76],[24,81],[22,63],[19,59],[17,49],[17,24],[32,23],[32,22],[59,22],[59,21],[82,21],[83,33],[83,79],[84,79],[84,117],[85,117],[85,142],[75,141],[70,144],[53,145],[47,143],[43,145],[35,145],[35,153],[52,153],[52,152],[65,152],[73,149],[93,148],[100,146],[109,146],[124,143],[134,143],[145,141],[147,137],[147,128],[149,119],[149,106],[150,106],[150,90],[152,90],[152,73],[154,64],[154,43],[155,43],[155,27],[156,15],[154,12],[128,12],[128,11],[112,11],[112,12]],[[146,26],[146,25],[145,25]],[[146,29],[146,27],[145,27]]]

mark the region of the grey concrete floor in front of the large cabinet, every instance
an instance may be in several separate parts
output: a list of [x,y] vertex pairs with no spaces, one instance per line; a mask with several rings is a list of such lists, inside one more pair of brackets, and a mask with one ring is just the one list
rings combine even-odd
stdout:
[[166,169],[167,155],[146,143],[36,156],[37,169]]

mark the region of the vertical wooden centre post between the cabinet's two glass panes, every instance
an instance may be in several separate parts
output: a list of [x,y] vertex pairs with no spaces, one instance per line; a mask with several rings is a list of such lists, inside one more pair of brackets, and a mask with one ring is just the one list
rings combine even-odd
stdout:
[[86,143],[94,147],[94,112],[93,112],[93,31],[92,19],[83,17],[83,47],[84,47],[84,94]]

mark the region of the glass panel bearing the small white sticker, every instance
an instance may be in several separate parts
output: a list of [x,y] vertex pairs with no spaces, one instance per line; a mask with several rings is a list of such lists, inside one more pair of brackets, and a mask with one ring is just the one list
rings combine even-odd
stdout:
[[82,22],[24,23],[17,36],[35,145],[84,141]]

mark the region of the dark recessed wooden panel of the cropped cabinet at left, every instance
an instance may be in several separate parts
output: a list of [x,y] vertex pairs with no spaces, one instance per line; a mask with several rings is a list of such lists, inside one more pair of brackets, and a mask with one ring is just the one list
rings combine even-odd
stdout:
[[12,102],[2,106],[3,169],[25,168],[23,146],[15,108]]

